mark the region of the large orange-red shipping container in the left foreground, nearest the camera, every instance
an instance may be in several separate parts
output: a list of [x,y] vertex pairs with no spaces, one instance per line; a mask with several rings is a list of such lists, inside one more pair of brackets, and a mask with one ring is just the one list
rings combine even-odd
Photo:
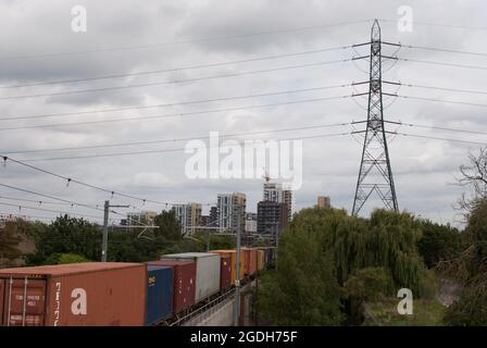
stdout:
[[146,265],[87,262],[0,270],[4,326],[142,326]]

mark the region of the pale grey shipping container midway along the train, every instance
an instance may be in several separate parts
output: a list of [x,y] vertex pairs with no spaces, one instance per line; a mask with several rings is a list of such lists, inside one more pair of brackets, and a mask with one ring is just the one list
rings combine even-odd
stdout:
[[196,302],[220,291],[220,254],[184,252],[165,254],[162,259],[196,261]]

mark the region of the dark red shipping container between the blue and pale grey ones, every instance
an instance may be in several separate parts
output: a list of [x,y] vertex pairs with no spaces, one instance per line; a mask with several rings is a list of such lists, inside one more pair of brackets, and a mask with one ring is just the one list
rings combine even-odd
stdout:
[[174,270],[173,312],[175,314],[195,304],[196,262],[160,260],[147,262],[150,265],[166,265]]

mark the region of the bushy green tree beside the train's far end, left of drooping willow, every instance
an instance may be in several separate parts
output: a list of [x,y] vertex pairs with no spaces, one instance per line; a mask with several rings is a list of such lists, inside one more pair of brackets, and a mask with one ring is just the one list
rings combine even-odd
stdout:
[[332,254],[323,253],[319,235],[294,229],[284,234],[278,270],[262,277],[259,306],[278,325],[339,325],[340,290]]

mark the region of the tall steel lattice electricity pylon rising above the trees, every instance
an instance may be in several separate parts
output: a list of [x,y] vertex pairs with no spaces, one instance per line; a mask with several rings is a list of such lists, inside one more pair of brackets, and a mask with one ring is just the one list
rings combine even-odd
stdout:
[[353,215],[359,214],[374,191],[387,209],[398,211],[398,200],[384,128],[380,48],[380,26],[375,20],[371,32],[367,121],[362,162],[353,201]]

